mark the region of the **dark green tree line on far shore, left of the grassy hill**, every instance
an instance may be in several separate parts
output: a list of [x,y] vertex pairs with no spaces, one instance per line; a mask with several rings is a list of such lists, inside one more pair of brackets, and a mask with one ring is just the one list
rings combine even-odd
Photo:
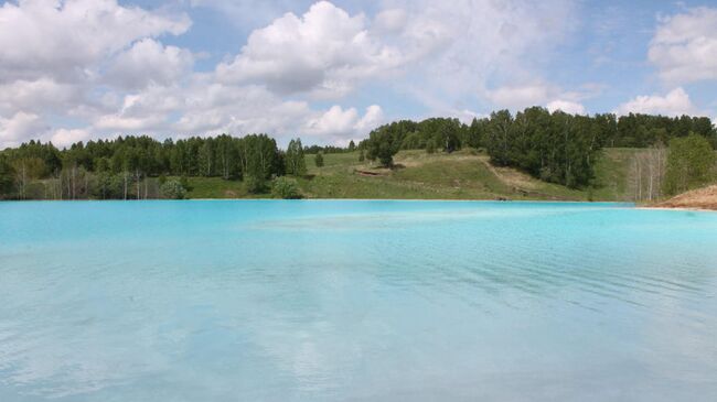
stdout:
[[[150,195],[151,181],[146,178],[163,176],[244,180],[250,192],[260,193],[272,176],[287,172],[287,163],[289,172],[300,169],[295,159],[292,150],[281,152],[266,134],[162,142],[119,137],[62,150],[51,142],[30,141],[0,152],[0,197],[149,198],[158,194]],[[300,159],[303,163],[303,154]]]

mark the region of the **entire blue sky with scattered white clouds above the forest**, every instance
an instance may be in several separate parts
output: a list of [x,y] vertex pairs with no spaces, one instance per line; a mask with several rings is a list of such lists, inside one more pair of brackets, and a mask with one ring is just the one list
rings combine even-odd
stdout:
[[543,106],[717,118],[717,0],[0,1],[0,149]]

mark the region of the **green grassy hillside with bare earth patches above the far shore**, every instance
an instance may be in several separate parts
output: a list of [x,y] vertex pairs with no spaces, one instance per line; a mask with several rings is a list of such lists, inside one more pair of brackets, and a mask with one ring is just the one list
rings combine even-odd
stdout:
[[[402,167],[393,171],[376,169],[368,161],[358,162],[357,152],[327,154],[321,169],[315,167],[313,155],[307,155],[309,174],[298,182],[308,198],[623,200],[628,161],[634,152],[607,150],[597,163],[596,188],[582,191],[544,183],[512,169],[493,167],[486,155],[472,150],[450,155],[402,151],[395,157]],[[240,182],[193,177],[190,185],[191,198],[257,197],[249,195]]]

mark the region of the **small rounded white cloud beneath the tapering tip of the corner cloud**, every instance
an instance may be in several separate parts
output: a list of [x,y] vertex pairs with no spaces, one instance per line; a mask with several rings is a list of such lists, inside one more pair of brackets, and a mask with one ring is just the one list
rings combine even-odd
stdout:
[[190,51],[163,46],[146,37],[117,55],[107,73],[107,80],[126,88],[170,85],[186,76],[193,63]]

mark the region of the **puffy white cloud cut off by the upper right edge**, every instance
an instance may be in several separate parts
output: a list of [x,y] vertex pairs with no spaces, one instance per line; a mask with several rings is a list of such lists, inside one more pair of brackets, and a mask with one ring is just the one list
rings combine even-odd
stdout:
[[717,9],[696,8],[661,19],[649,58],[668,84],[717,79]]

